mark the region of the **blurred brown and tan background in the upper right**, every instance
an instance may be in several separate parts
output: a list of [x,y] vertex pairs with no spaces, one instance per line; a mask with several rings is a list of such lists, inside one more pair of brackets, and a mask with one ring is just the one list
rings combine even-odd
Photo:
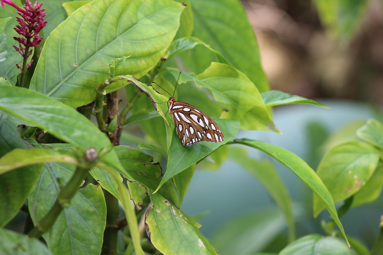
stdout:
[[383,1],[357,2],[366,4],[342,37],[312,0],[242,0],[271,89],[383,105]]

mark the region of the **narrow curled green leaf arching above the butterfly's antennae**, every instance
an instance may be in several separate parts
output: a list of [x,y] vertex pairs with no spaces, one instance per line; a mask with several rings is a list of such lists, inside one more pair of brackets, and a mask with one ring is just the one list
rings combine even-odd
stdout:
[[204,43],[200,39],[195,38],[193,36],[183,37],[183,38],[179,38],[179,39],[173,41],[173,43],[170,44],[170,47],[168,49],[168,51],[169,51],[168,58],[172,57],[173,55],[178,54],[182,51],[193,49],[197,45],[203,45],[207,49],[209,49],[211,52],[213,52],[216,55],[219,62],[231,65],[230,62],[227,59],[225,59],[224,56],[221,55],[221,53],[214,50],[212,47],[210,47],[209,45],[207,45],[206,43]]

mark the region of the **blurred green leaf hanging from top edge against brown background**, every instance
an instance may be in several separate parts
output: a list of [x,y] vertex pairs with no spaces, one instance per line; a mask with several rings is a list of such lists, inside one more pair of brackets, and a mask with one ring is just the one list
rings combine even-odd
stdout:
[[332,36],[348,41],[357,31],[367,8],[366,0],[314,0],[319,18]]

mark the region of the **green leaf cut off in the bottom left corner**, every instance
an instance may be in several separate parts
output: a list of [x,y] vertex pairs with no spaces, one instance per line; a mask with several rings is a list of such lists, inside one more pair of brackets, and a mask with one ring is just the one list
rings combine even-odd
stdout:
[[52,255],[46,245],[28,235],[0,229],[0,253],[13,255]]

